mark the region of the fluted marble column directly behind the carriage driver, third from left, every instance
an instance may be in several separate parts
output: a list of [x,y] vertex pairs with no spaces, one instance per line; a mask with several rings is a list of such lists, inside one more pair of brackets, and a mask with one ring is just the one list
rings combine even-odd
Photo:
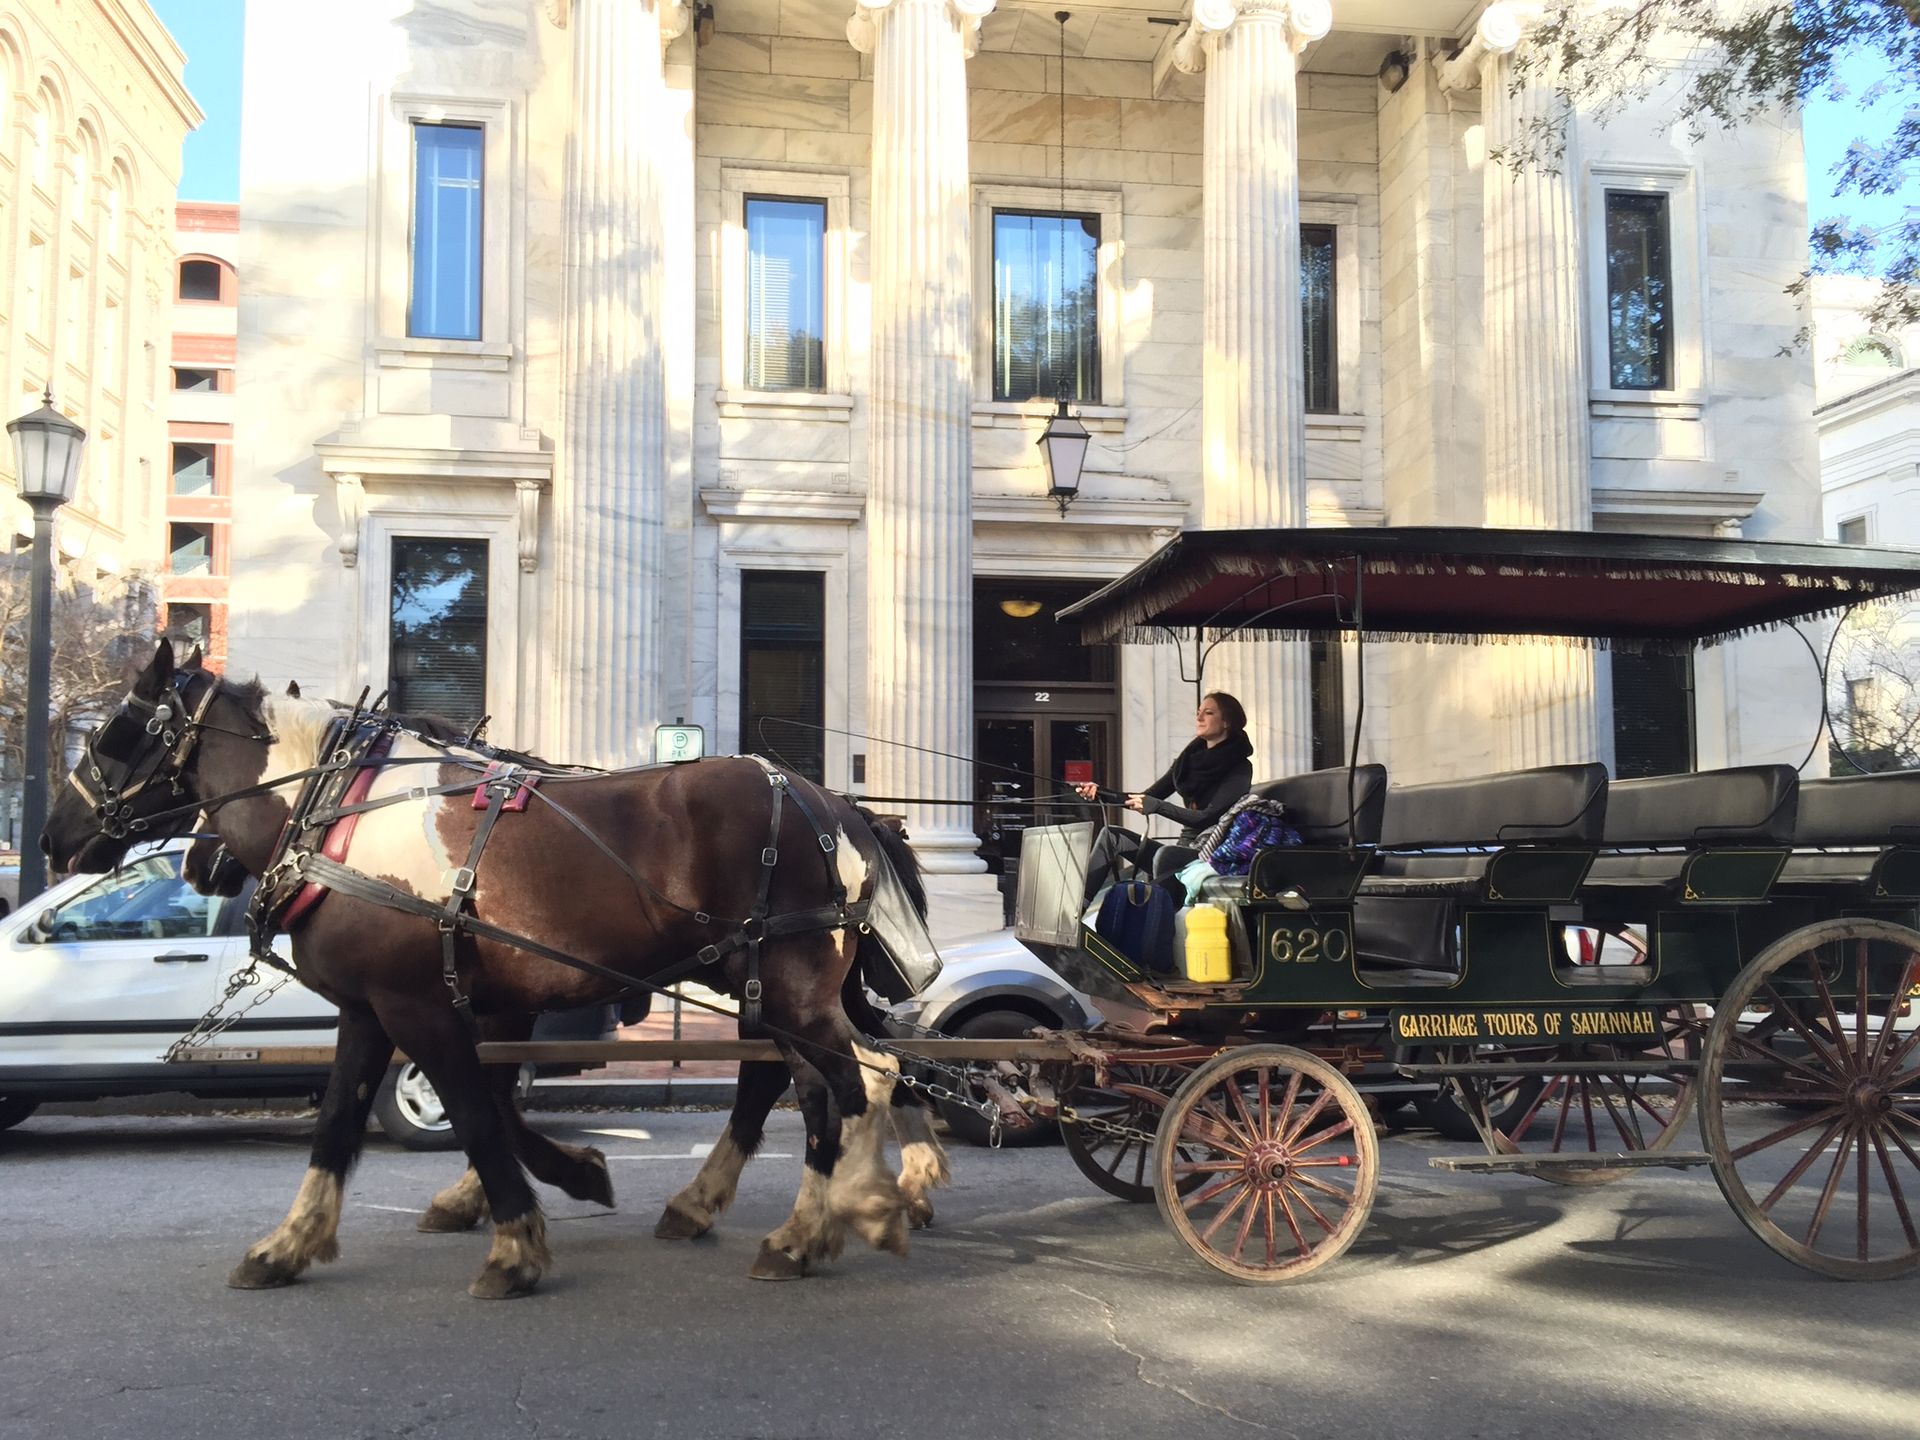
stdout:
[[[1181,69],[1206,71],[1202,524],[1210,528],[1308,522],[1296,71],[1300,50],[1329,25],[1327,0],[1196,0],[1175,50]],[[1221,645],[1206,687],[1246,705],[1256,776],[1308,768],[1306,645]]]

